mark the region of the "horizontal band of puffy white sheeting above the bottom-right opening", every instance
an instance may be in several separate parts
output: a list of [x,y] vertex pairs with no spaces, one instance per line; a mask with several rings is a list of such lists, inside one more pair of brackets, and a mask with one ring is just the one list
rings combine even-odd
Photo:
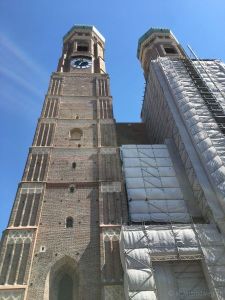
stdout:
[[149,255],[176,258],[199,254],[198,240],[192,225],[130,226],[121,232],[121,241],[129,256],[127,263],[131,260],[128,267],[132,268],[133,255],[136,255],[136,260],[146,264]]

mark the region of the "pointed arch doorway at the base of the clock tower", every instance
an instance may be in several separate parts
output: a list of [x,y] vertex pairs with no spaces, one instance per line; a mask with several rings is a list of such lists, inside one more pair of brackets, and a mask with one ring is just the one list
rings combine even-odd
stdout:
[[69,256],[65,256],[51,268],[49,300],[77,300],[78,288],[76,261]]

